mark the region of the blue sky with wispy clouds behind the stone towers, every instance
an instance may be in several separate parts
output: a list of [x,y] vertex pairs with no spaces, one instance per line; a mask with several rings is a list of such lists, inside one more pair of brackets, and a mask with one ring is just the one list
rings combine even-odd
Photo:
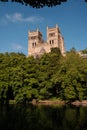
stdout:
[[28,30],[39,30],[46,40],[46,27],[58,24],[65,48],[87,48],[87,3],[68,0],[59,6],[34,9],[20,3],[0,2],[0,53],[28,53]]

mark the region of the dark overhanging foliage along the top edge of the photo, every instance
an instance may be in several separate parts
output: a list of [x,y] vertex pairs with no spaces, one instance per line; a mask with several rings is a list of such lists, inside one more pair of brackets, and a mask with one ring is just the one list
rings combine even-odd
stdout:
[[[42,8],[44,6],[52,7],[60,5],[62,2],[67,2],[68,0],[0,0],[1,2],[18,2],[24,5],[30,5],[33,8]],[[87,0],[84,0],[87,2]]]

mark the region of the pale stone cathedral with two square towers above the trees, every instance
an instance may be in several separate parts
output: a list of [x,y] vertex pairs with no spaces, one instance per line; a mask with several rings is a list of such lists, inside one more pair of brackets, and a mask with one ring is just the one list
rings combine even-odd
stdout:
[[54,28],[47,27],[46,42],[43,40],[42,33],[38,29],[28,32],[28,56],[36,58],[44,53],[49,53],[51,48],[55,47],[60,49],[63,56],[65,55],[64,38],[57,25]]

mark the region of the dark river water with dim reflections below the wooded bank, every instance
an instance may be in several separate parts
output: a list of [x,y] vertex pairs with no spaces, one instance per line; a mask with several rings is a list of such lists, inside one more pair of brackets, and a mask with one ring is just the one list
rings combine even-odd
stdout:
[[87,107],[0,106],[0,130],[87,130]]

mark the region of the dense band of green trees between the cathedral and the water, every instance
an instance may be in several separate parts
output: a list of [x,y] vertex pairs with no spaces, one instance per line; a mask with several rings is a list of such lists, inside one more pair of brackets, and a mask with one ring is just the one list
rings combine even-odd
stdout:
[[87,99],[87,59],[75,51],[63,57],[58,48],[40,58],[0,53],[0,102],[33,99]]

